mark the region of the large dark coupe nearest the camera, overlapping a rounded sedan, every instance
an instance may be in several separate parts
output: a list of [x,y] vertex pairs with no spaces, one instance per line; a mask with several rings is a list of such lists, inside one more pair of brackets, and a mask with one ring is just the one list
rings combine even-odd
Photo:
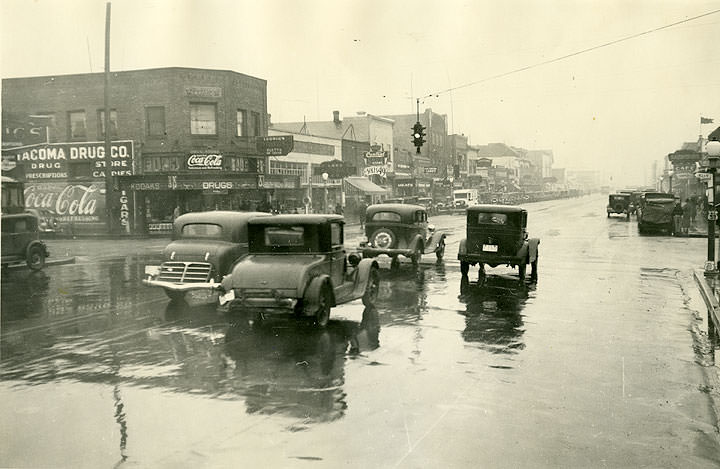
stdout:
[[249,254],[222,279],[220,305],[240,325],[273,316],[325,327],[330,309],[377,297],[378,264],[345,253],[340,215],[277,215],[248,223]]

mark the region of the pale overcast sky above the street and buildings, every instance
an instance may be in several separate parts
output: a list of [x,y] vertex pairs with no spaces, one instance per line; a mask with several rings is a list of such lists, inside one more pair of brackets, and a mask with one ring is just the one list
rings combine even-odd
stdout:
[[[0,0],[0,76],[102,72],[106,3]],[[717,0],[110,3],[112,71],[262,78],[273,122],[408,114],[420,98],[471,144],[550,149],[615,186],[646,184],[720,125]]]

